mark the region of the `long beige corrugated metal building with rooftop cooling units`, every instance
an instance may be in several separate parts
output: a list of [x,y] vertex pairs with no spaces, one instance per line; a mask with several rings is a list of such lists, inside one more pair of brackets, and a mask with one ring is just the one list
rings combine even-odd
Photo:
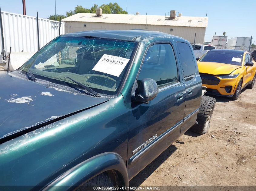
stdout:
[[63,19],[65,33],[85,30],[130,30],[144,29],[161,31],[175,36],[183,37],[189,42],[204,43],[205,30],[208,18],[184,17],[165,19],[159,15],[133,15],[133,14],[102,14],[101,17],[92,16],[90,13],[78,13]]

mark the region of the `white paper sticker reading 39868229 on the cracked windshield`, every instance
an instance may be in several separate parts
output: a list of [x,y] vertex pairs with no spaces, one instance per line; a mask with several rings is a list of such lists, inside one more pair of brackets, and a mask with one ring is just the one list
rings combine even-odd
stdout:
[[129,60],[130,59],[104,54],[92,69],[119,77]]

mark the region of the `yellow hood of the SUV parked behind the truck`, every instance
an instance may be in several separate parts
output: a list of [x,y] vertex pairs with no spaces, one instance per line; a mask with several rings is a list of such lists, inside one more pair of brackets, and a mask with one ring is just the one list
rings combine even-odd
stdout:
[[224,64],[218,62],[197,62],[199,73],[205,74],[231,74],[234,70],[242,68],[242,66]]

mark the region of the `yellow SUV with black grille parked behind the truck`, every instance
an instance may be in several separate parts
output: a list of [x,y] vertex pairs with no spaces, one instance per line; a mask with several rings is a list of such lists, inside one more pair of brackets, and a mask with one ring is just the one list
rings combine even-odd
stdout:
[[243,88],[254,86],[256,62],[247,51],[215,49],[197,58],[197,61],[208,94],[237,100]]

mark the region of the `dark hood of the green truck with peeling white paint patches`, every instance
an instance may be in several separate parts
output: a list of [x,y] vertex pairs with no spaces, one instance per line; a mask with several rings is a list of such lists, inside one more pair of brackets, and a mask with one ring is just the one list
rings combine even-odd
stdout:
[[[0,142],[109,99],[0,73]],[[33,128],[34,127],[34,128]]]

